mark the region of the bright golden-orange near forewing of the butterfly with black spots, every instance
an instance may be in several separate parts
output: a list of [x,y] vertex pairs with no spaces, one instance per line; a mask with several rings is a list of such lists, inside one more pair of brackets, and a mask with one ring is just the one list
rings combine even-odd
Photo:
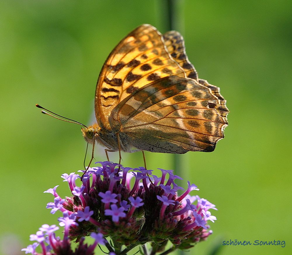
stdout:
[[107,118],[119,102],[170,75],[185,77],[185,72],[170,57],[162,35],[151,25],[138,27],[117,45],[103,66],[95,94],[98,122],[107,126]]

